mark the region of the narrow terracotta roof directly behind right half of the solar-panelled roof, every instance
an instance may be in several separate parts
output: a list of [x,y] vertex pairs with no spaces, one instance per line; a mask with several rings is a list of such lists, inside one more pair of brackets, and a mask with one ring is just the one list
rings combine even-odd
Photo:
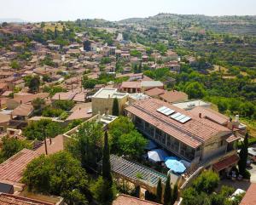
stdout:
[[229,117],[224,116],[218,111],[213,111],[212,109],[207,109],[201,106],[195,107],[190,112],[195,116],[199,116],[199,113],[201,113],[201,117],[208,118],[209,120],[222,125],[226,124],[229,121]]

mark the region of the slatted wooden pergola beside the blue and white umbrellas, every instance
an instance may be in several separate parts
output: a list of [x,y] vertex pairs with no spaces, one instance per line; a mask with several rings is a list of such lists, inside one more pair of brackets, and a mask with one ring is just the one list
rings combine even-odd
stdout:
[[[156,191],[159,179],[161,179],[163,184],[166,184],[167,177],[165,174],[161,174],[137,162],[131,162],[123,157],[111,155],[110,163],[113,174],[130,181],[134,185],[140,185],[153,193]],[[102,165],[102,161],[99,162],[99,165]]]

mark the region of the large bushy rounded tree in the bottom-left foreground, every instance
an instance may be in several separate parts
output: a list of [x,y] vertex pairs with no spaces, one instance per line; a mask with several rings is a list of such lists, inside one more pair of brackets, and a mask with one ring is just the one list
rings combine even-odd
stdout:
[[67,152],[33,159],[22,182],[29,191],[62,196],[67,204],[88,204],[87,175],[80,162]]

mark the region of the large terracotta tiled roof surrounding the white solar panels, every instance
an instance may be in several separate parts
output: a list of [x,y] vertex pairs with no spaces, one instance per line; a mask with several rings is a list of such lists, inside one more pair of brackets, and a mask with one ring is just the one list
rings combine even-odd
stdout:
[[[177,122],[171,117],[166,117],[156,111],[161,106],[169,107],[174,111],[191,117],[191,120],[183,124],[181,122]],[[141,117],[144,121],[154,125],[154,127],[160,128],[172,137],[177,138],[177,140],[181,140],[183,143],[194,148],[220,132],[226,132],[227,134],[231,133],[230,129],[225,128],[224,126],[218,125],[217,123],[208,121],[204,118],[194,117],[188,111],[179,109],[174,105],[163,102],[162,100],[139,100],[133,105],[125,108],[125,110],[131,112],[137,117]]]

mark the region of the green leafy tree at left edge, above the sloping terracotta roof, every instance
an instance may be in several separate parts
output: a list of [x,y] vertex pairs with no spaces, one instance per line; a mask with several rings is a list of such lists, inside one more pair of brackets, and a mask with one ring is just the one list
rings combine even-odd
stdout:
[[2,144],[2,150],[0,151],[0,162],[9,159],[9,157],[14,156],[17,152],[24,148],[32,149],[32,145],[30,145],[26,140],[18,140],[15,138],[9,138],[8,136],[3,137]]

